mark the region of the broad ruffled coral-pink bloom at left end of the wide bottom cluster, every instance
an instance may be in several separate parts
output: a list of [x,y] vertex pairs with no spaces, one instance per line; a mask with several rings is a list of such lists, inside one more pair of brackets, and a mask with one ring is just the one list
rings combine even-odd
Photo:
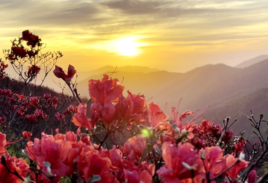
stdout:
[[[40,166],[42,172],[47,175],[47,168],[43,162],[51,164],[51,174],[56,175],[54,182],[58,182],[60,177],[71,174],[74,171],[73,158],[78,150],[72,148],[74,142],[56,140],[52,135],[42,132],[41,140],[35,138],[34,142],[27,143],[26,151],[32,160]],[[76,145],[76,143],[74,143]]]

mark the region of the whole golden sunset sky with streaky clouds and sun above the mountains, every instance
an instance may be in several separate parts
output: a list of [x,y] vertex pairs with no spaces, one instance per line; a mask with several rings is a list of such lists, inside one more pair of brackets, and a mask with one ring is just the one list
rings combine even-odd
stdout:
[[[0,49],[29,29],[58,64],[186,72],[268,55],[267,0],[0,0]],[[4,58],[4,55],[1,55]]]

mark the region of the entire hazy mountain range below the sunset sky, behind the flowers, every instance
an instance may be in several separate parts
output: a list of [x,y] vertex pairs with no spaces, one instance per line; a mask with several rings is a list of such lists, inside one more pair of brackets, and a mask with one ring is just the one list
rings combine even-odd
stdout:
[[133,94],[143,94],[148,103],[159,104],[169,115],[171,107],[177,107],[182,98],[178,109],[180,113],[185,110],[203,111],[210,106],[204,113],[205,119],[213,118],[215,123],[222,124],[227,116],[237,118],[232,129],[235,132],[236,129],[247,130],[247,135],[252,128],[244,114],[250,116],[252,110],[256,116],[262,113],[268,119],[268,55],[245,61],[236,67],[205,65],[186,73],[138,66],[119,67],[110,73],[114,70],[114,67],[106,66],[89,72],[88,78],[78,81],[80,95],[89,97],[89,79],[100,79],[103,73],[109,73],[125,86],[125,96],[127,90]]

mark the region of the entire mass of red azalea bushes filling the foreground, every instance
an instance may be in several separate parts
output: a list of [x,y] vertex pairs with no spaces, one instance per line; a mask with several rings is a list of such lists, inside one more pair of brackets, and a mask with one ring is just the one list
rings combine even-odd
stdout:
[[[32,62],[42,46],[40,41],[26,30],[7,51],[12,66],[16,68],[19,63],[19,71],[21,63],[29,61],[26,79],[18,72],[27,89],[40,73],[40,64]],[[58,53],[56,59],[62,56]],[[0,64],[0,77],[4,79],[7,65]],[[49,66],[54,65],[52,62]],[[179,114],[172,108],[170,119],[158,104],[147,103],[143,95],[127,91],[123,96],[125,87],[108,75],[88,81],[91,100],[86,103],[79,98],[76,82],[72,81],[75,74],[72,65],[67,73],[55,65],[54,75],[71,89],[72,97],[46,93],[41,97],[26,95],[26,90],[19,94],[14,88],[0,89],[0,125],[1,131],[7,132],[0,132],[0,183],[58,183],[63,177],[72,183],[263,181],[257,180],[255,168],[266,163],[267,137],[265,141],[258,136],[261,152],[256,150],[256,142],[243,139],[243,132],[233,136],[228,126],[230,118],[221,126],[203,120],[201,115],[206,110]],[[248,118],[260,132],[263,115],[259,122],[253,115]],[[13,142],[7,141],[7,136]],[[246,157],[249,161],[244,159],[246,143],[253,149]],[[18,158],[12,156],[14,152]]]

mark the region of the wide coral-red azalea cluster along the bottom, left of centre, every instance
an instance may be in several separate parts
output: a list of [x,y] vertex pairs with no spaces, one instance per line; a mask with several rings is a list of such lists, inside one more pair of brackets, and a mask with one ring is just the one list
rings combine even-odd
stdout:
[[66,132],[64,135],[56,131],[55,136],[42,133],[40,140],[36,138],[34,142],[27,143],[29,158],[37,163],[38,171],[42,172],[37,177],[39,182],[58,182],[62,176],[69,176],[76,171],[86,182],[94,176],[103,183],[152,181],[154,165],[139,162],[146,147],[145,138],[129,139],[123,151],[115,147],[112,150],[96,150],[87,137],[77,141],[74,132]]

